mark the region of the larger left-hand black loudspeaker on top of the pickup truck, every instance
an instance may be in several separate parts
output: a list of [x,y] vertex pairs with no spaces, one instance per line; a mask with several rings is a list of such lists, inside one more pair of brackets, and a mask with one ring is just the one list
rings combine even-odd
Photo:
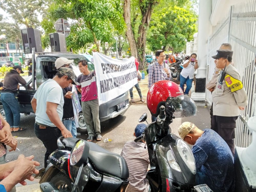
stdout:
[[42,52],[42,43],[40,31],[31,27],[21,29],[24,53],[32,53],[32,48],[35,47],[36,52]]

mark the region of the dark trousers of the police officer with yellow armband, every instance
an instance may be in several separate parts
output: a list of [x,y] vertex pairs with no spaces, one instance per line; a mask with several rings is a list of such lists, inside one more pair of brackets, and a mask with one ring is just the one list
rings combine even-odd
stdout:
[[235,155],[235,128],[238,116],[224,117],[212,115],[211,129],[217,132],[228,144],[233,156]]

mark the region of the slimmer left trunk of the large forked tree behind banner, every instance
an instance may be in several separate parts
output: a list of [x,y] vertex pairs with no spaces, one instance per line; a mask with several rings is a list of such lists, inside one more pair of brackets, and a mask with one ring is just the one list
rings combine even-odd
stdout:
[[137,49],[137,44],[132,32],[132,25],[131,25],[131,0],[124,0],[124,5],[123,5],[123,10],[124,10],[124,22],[127,26],[125,35],[127,37],[127,40],[129,42],[130,48],[131,48],[131,55],[134,56],[135,58],[138,58],[138,49]]

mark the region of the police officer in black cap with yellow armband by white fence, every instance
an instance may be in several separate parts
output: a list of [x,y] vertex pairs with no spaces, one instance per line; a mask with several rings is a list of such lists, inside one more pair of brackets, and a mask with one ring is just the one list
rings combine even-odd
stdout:
[[217,84],[212,92],[213,117],[211,129],[216,131],[228,144],[234,156],[234,138],[236,120],[240,110],[244,110],[247,103],[247,93],[240,80],[236,68],[231,65],[233,51],[217,50],[216,68],[221,69],[217,76]]

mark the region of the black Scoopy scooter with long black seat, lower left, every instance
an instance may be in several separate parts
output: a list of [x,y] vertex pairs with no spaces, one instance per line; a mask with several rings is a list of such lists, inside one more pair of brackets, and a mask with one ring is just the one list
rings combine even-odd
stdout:
[[78,141],[78,138],[58,138],[58,149],[50,154],[47,168],[39,170],[41,191],[51,191],[47,190],[49,187],[59,191],[71,191],[75,185],[75,191],[125,191],[129,183],[129,170],[125,159],[96,143],[84,141],[86,151],[81,149],[79,155],[87,155],[87,161],[80,167],[75,166],[72,164],[74,160],[71,153],[72,148],[74,150],[77,147]]

